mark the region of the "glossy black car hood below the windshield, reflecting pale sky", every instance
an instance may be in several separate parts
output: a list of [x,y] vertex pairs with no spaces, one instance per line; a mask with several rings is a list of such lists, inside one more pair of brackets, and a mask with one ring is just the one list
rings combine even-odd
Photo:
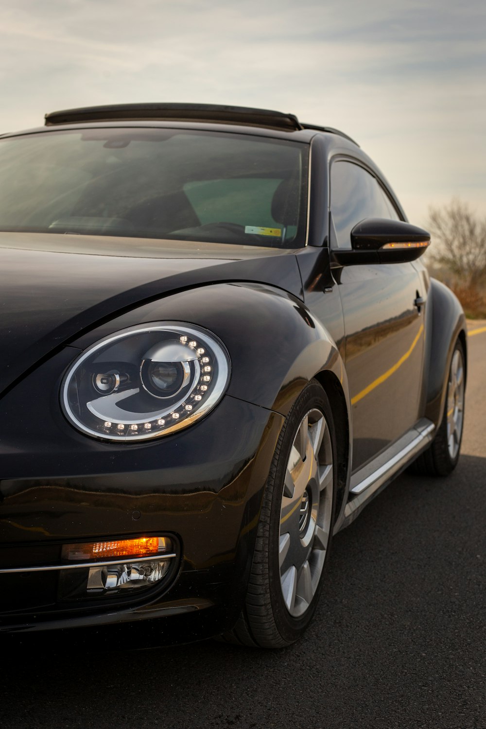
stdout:
[[0,392],[82,332],[171,292],[251,281],[302,297],[291,250],[146,238],[0,233],[0,279]]

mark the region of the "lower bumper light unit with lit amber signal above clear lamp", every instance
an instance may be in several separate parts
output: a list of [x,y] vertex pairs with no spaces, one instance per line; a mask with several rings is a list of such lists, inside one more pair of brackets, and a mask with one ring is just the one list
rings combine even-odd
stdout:
[[59,599],[125,597],[135,590],[138,593],[154,587],[172,572],[177,556],[174,546],[170,537],[64,545],[63,559],[79,564],[60,570]]

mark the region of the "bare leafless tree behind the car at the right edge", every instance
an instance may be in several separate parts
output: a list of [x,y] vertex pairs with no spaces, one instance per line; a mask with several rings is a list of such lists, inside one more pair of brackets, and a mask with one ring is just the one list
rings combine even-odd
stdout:
[[428,230],[439,243],[432,260],[447,269],[460,286],[486,284],[486,218],[479,219],[458,198],[443,208],[428,209]]

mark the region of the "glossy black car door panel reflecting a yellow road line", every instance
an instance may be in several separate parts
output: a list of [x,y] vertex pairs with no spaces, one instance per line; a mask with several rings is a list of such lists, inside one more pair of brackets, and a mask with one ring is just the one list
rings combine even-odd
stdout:
[[[420,418],[423,320],[413,305],[418,289],[420,279],[408,264],[353,265],[341,272],[353,470]],[[387,377],[393,367],[396,376]],[[399,407],[391,408],[390,403]]]

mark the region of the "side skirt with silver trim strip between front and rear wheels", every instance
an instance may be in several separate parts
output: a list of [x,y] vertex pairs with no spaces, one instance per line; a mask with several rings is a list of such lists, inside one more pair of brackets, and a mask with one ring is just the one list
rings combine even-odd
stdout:
[[434,423],[422,418],[384,453],[380,453],[380,456],[351,476],[344,518],[336,525],[334,534],[349,526],[385,486],[426,450],[434,439],[434,431]]

